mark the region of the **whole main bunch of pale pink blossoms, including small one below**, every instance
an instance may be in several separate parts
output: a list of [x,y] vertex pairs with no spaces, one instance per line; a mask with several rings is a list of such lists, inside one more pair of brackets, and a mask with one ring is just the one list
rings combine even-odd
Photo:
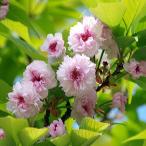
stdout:
[[[101,49],[105,50],[108,59],[117,57],[119,49],[111,30],[92,16],[84,17],[82,22],[71,27],[68,44],[74,53],[72,57],[66,55],[61,33],[48,34],[41,46],[41,50],[47,52],[48,63],[40,60],[30,63],[23,73],[23,80],[16,83],[8,94],[7,107],[16,117],[35,116],[46,102],[44,99],[49,100],[48,90],[56,86],[60,86],[66,96],[74,97],[71,115],[77,121],[85,116],[94,116],[96,64],[91,58],[97,56]],[[55,71],[51,68],[54,62],[61,62]],[[54,121],[49,129],[52,137],[65,132],[61,120]]]

